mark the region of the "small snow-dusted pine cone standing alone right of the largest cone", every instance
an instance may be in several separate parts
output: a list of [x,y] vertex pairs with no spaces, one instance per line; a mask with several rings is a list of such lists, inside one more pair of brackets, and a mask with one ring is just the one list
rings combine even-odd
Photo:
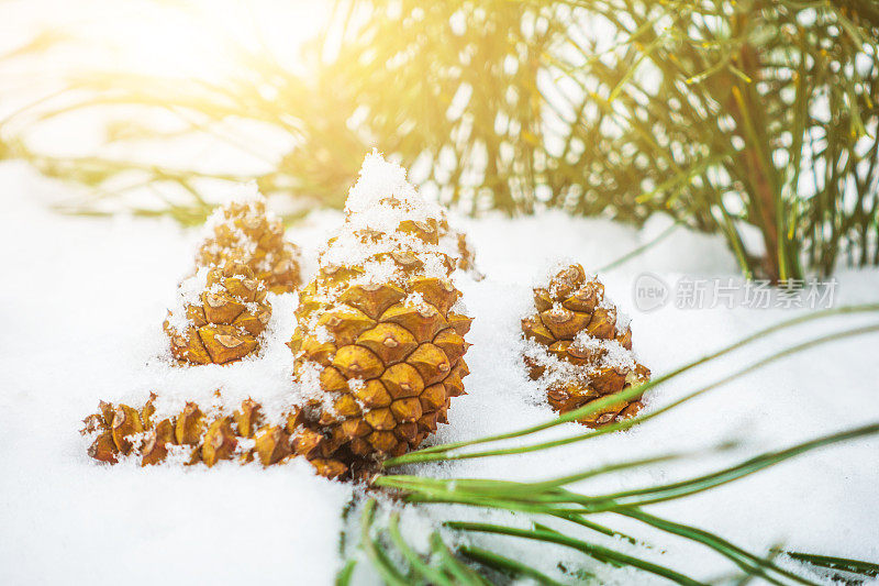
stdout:
[[[534,289],[534,306],[536,312],[522,320],[525,338],[534,342],[525,365],[532,378],[547,382],[547,401],[556,411],[579,409],[649,378],[632,352],[627,321],[580,265]],[[634,417],[642,407],[641,398],[620,400],[578,421],[597,428]]]

